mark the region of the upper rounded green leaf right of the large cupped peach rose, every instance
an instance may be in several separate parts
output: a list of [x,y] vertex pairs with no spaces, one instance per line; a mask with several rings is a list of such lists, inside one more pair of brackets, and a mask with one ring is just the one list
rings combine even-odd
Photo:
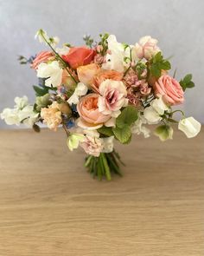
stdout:
[[137,121],[137,108],[134,106],[128,106],[123,109],[120,115],[116,119],[116,126],[118,128],[124,128],[125,126],[131,126],[131,124]]

